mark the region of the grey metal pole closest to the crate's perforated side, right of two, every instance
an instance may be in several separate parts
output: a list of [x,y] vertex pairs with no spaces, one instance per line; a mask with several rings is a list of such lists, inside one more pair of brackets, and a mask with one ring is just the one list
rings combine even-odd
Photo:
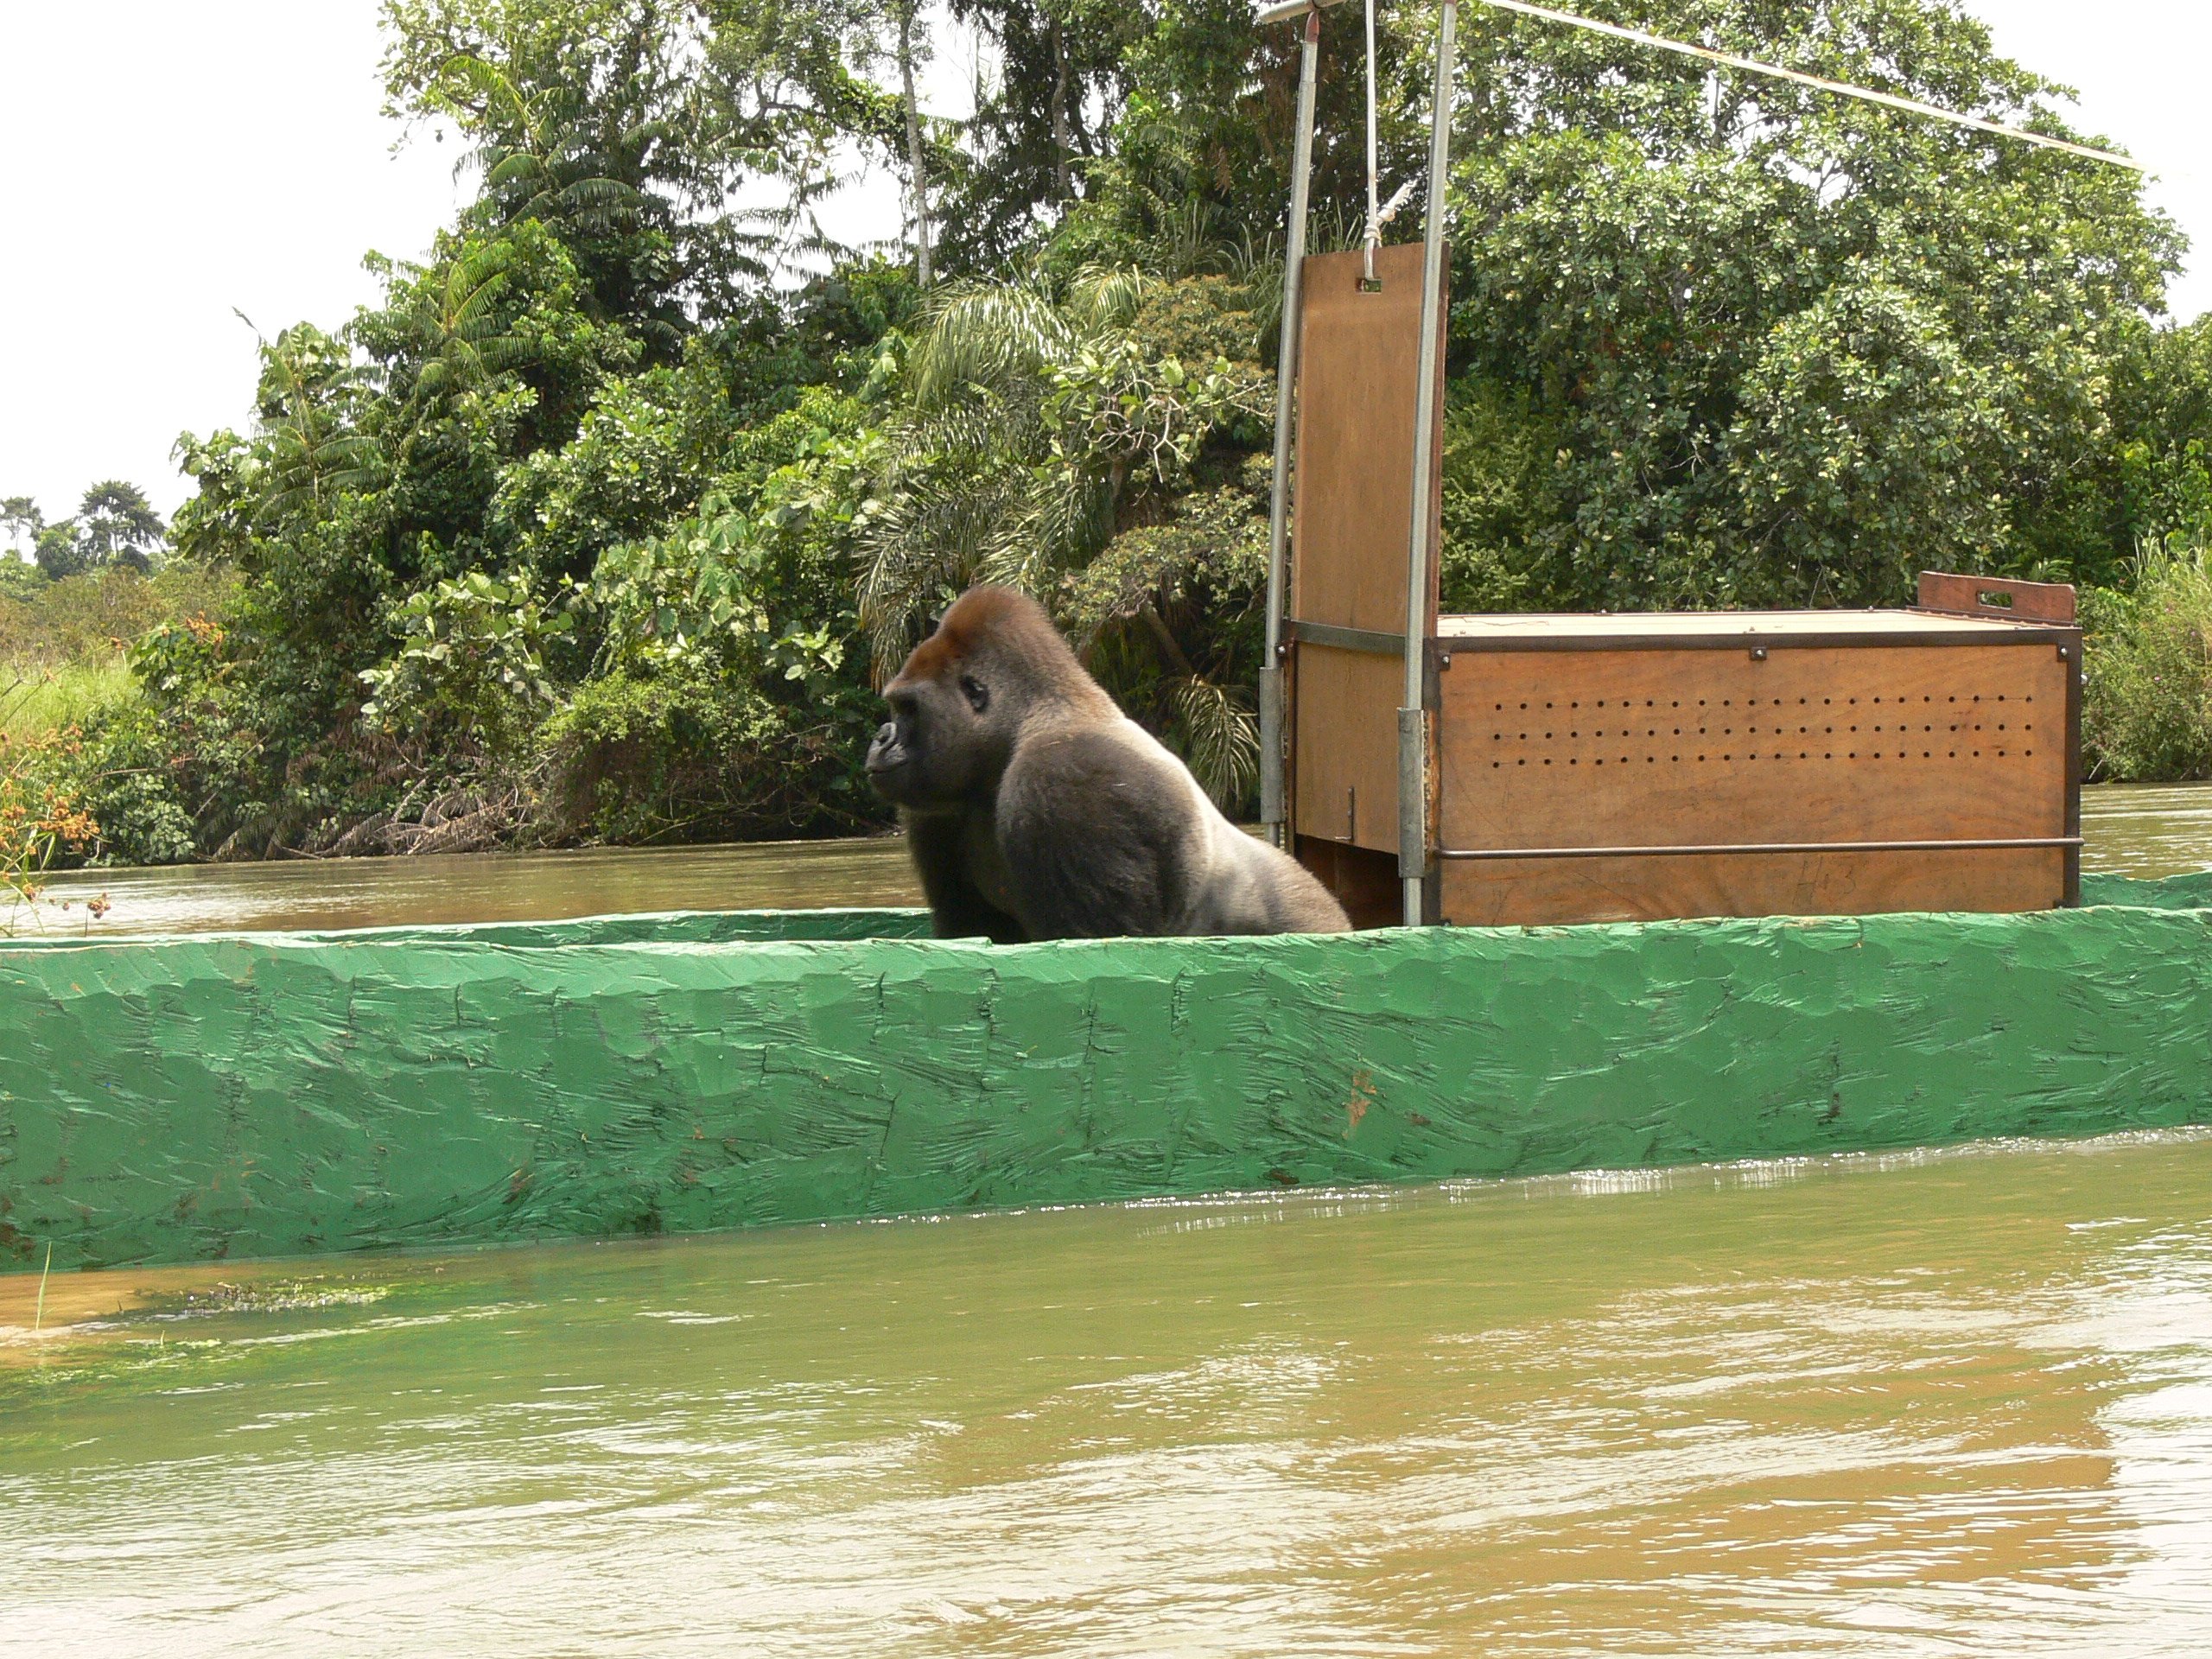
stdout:
[[1442,352],[1444,299],[1444,175],[1451,168],[1451,88],[1460,24],[1458,0],[1444,0],[1436,29],[1436,108],[1429,115],[1429,223],[1420,259],[1420,358],[1413,405],[1413,533],[1405,575],[1405,706],[1398,710],[1398,880],[1405,885],[1405,925],[1420,927],[1422,887],[1429,874],[1429,714],[1427,635],[1429,582],[1436,549],[1429,546],[1429,495],[1436,489],[1436,369]]

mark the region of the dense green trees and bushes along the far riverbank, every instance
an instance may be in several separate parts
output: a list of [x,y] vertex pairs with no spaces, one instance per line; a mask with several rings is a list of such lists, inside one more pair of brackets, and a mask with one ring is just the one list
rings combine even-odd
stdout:
[[[2064,131],[1942,0],[1588,9]],[[1243,803],[1290,31],[1245,0],[953,11],[1002,62],[958,126],[914,108],[911,7],[387,0],[392,108],[460,137],[471,206],[374,263],[376,305],[265,341],[246,427],[181,440],[197,493],[133,626],[64,648],[31,617],[153,560],[115,487],[53,529],[0,504],[66,577],[0,584],[0,657],[91,675],[40,692],[77,734],[35,765],[97,849],[867,827],[874,677],[980,577]],[[1321,246],[1358,234],[1358,27],[1325,29]],[[1385,188],[1420,173],[1431,27],[1385,18]],[[2181,243],[2132,175],[1464,29],[1451,606],[2075,580],[2157,635],[2097,659],[2095,706],[2168,695],[2121,664],[2194,664],[2203,726],[2205,635],[2152,593],[2212,533],[2212,325],[2163,323]],[[838,248],[814,208],[863,161],[907,223]],[[2179,717],[2099,719],[2110,772],[2212,768]]]

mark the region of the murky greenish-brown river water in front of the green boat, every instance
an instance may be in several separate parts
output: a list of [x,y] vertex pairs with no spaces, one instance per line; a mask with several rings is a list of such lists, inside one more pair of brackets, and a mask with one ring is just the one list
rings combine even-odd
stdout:
[[2208,1137],[148,1283],[0,1652],[2212,1650]]

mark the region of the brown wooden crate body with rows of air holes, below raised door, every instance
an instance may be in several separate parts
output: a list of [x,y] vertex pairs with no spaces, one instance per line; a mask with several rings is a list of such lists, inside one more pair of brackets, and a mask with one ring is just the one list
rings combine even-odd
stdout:
[[[2079,894],[2073,591],[1913,611],[1438,617],[1429,911],[1460,925],[2024,911]],[[1298,628],[1298,852],[1396,907],[1400,657]]]

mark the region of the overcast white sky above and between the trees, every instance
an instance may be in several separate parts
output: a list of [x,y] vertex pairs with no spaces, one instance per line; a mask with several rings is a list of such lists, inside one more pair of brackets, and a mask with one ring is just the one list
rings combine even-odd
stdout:
[[[2161,175],[2154,199],[2201,248],[2174,310],[2212,307],[2212,7],[1969,9]],[[336,325],[374,294],[365,250],[429,246],[456,206],[453,150],[425,135],[394,153],[376,58],[376,0],[0,0],[0,495],[62,518],[119,476],[173,511],[177,434],[248,411],[234,312],[270,334]],[[962,71],[938,80],[951,102]],[[876,179],[836,228],[896,234],[894,204]]]

